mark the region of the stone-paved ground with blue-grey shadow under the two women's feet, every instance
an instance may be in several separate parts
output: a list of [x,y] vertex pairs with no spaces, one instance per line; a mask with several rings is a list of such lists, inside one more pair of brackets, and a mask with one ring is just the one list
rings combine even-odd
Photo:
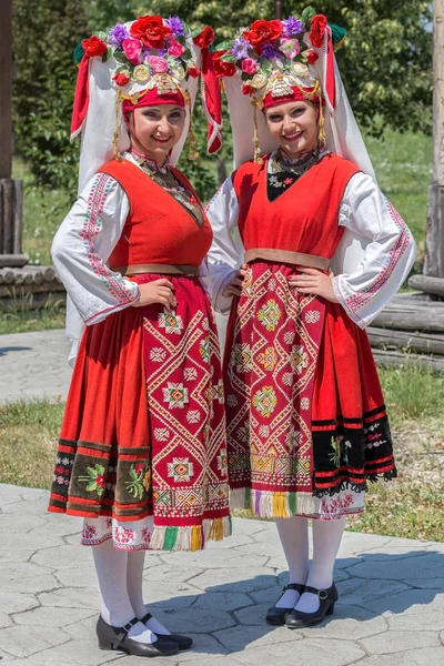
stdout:
[[[131,666],[100,652],[98,588],[79,519],[46,513],[46,491],[0,485],[0,654],[13,666]],[[191,666],[443,666],[444,544],[347,533],[324,625],[273,628],[266,608],[286,581],[272,523],[234,519],[204,553],[147,555],[144,594],[194,648],[162,664]]]

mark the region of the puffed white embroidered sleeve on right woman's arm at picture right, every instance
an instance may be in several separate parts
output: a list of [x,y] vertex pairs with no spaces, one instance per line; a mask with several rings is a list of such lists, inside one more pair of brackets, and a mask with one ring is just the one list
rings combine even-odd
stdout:
[[339,223],[365,239],[365,251],[356,266],[333,279],[336,299],[364,329],[407,278],[415,260],[415,242],[400,213],[364,173],[349,181]]

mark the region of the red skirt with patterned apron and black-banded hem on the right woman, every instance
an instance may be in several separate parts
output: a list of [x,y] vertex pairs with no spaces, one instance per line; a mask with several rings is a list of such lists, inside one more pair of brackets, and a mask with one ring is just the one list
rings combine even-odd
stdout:
[[366,333],[341,305],[290,289],[293,271],[253,262],[233,300],[224,363],[232,506],[322,516],[326,498],[341,495],[335,512],[354,513],[363,503],[350,497],[366,480],[396,474],[377,371]]

